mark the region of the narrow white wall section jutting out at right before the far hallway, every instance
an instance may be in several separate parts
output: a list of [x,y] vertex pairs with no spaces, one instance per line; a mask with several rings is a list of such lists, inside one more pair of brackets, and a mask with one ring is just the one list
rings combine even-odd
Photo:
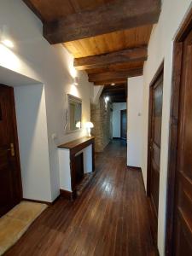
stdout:
[[143,76],[128,79],[127,166],[142,166]]

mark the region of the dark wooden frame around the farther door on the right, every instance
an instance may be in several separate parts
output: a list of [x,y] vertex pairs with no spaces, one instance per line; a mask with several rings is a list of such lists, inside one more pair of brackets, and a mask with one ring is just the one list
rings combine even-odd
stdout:
[[164,61],[161,62],[160,67],[154,74],[154,78],[149,84],[149,98],[148,98],[148,167],[147,167],[147,195],[150,196],[150,177],[151,177],[151,150],[150,150],[150,137],[152,132],[152,107],[153,107],[153,86],[154,83],[160,78],[164,72]]

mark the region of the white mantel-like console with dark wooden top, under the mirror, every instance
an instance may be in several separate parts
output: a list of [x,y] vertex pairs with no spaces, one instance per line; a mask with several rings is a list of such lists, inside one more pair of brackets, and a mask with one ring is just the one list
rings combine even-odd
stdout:
[[76,197],[76,157],[83,155],[84,173],[95,171],[95,138],[81,137],[58,146],[61,194],[69,199]]

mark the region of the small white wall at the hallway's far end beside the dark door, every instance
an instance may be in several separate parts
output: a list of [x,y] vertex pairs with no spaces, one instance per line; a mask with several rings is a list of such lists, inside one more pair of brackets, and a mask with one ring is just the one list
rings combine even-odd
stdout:
[[113,103],[113,116],[112,116],[112,126],[113,126],[113,137],[120,137],[120,110],[126,109],[125,103]]

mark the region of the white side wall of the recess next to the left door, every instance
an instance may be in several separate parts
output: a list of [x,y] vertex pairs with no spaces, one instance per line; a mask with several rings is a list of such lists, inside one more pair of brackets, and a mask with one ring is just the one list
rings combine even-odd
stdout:
[[44,85],[15,87],[15,108],[23,197],[51,201]]

